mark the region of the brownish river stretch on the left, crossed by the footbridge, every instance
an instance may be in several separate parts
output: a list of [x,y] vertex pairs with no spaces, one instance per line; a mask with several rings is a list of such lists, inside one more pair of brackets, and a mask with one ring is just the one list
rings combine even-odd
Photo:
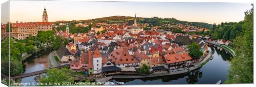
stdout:
[[[44,69],[48,69],[49,65],[49,57],[48,55],[53,51],[52,48],[47,48],[45,50],[41,50],[38,53],[28,57],[23,63],[24,73],[31,73],[34,71],[40,71]],[[36,76],[29,76],[21,79],[21,83],[32,83],[36,82],[34,80]]]

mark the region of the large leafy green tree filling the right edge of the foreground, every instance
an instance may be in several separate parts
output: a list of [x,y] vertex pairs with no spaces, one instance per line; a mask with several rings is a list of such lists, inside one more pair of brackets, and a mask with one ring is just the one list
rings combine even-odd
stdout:
[[[253,6],[253,4],[252,4]],[[253,21],[254,7],[245,12],[242,25],[242,35],[233,41],[236,56],[230,61],[229,75],[225,83],[253,83],[254,58],[253,58]]]

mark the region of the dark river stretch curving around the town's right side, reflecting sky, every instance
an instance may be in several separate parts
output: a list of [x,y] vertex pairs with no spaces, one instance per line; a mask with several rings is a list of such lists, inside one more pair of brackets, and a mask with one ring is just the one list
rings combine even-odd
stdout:
[[216,84],[219,80],[223,83],[227,79],[230,55],[225,53],[225,50],[220,51],[218,49],[217,47],[209,46],[209,50],[214,56],[213,60],[190,73],[154,78],[111,79],[110,81],[124,82],[124,85]]

